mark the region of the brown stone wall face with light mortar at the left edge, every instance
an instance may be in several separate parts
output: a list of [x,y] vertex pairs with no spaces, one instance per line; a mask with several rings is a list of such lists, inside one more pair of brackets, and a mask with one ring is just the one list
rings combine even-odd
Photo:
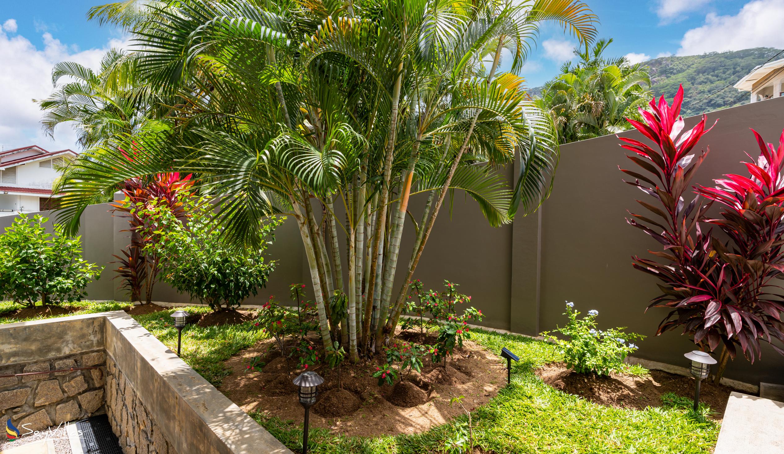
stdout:
[[38,373],[0,378],[0,424],[9,418],[21,434],[40,431],[100,413],[106,376],[103,349],[0,367],[0,376],[12,373],[99,366],[72,372]]

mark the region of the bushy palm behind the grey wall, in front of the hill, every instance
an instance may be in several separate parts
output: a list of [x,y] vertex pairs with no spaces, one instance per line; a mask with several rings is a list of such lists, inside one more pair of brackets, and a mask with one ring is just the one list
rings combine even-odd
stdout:
[[626,58],[605,58],[612,39],[575,48],[577,63],[567,62],[561,74],[546,83],[539,106],[549,110],[561,143],[615,134],[631,128],[626,118],[639,119],[639,107],[650,97],[645,67]]

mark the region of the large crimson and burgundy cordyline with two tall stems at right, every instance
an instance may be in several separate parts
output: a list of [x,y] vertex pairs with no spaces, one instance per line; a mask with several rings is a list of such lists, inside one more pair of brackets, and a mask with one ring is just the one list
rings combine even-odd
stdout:
[[[762,156],[759,164],[746,164],[751,178],[725,175],[728,179],[716,180],[717,188],[694,188],[691,178],[708,150],[699,155],[691,150],[710,128],[706,129],[703,115],[694,128],[683,132],[682,101],[681,87],[672,105],[663,96],[658,103],[652,99],[650,111],[641,110],[643,122],[629,120],[658,150],[619,137],[625,142],[623,148],[636,153],[629,159],[644,171],[621,169],[635,178],[627,183],[655,200],[653,204],[637,200],[653,216],[630,213],[633,219],[627,222],[664,246],[662,251],[649,251],[659,261],[633,256],[634,268],[662,281],[662,294],[648,307],[671,309],[657,334],[681,328],[702,350],[715,351],[724,345],[718,381],[728,358],[735,358],[736,346],[753,362],[760,356],[760,340],[784,340],[780,318],[784,307],[769,293],[771,279],[784,271],[784,228],[780,226],[784,182],[779,178],[784,142],[775,150],[757,135]],[[691,189],[697,195],[687,204],[684,194]],[[718,219],[706,217],[713,201],[725,207]],[[721,243],[701,223],[727,233],[730,243]]]

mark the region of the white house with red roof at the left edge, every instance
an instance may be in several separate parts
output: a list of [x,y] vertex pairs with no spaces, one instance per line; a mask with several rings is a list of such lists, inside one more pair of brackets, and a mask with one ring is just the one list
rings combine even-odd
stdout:
[[51,210],[57,194],[52,184],[58,166],[77,153],[46,151],[40,146],[23,146],[0,152],[0,216]]

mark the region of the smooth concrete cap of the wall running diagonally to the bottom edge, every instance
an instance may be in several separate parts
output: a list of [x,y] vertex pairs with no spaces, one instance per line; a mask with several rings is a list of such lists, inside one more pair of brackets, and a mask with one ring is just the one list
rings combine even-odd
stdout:
[[128,314],[103,315],[107,354],[176,452],[291,453]]

